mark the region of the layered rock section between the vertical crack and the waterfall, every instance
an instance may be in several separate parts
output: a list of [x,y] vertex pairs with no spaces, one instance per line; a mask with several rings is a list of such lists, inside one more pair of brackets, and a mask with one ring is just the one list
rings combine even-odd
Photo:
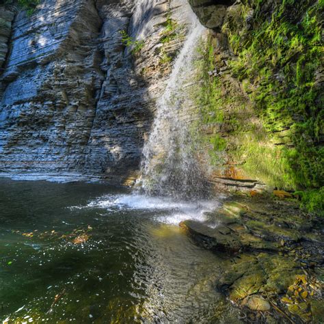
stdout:
[[[88,173],[125,176],[139,170],[144,138],[150,131],[155,100],[165,86],[170,63],[161,55],[174,57],[183,40],[170,40],[161,51],[161,33],[167,19],[184,24],[189,14],[186,1],[145,0],[126,8],[111,5],[101,10],[105,17],[102,38],[106,71],[96,107],[90,140],[85,151]],[[122,44],[127,31],[133,46]],[[139,49],[134,49],[139,42]]]

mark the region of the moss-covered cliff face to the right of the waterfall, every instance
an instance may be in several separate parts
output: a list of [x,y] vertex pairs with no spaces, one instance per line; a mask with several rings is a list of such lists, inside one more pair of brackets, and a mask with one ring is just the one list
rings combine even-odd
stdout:
[[[191,1],[203,23],[221,2]],[[213,27],[197,96],[218,187],[297,190],[323,211],[322,14],[322,1],[242,0]]]

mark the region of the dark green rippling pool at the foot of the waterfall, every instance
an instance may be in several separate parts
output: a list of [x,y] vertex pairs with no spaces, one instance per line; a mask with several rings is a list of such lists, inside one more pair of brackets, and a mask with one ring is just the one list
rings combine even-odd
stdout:
[[215,289],[221,258],[180,230],[177,205],[154,204],[104,184],[0,179],[0,320],[235,323]]

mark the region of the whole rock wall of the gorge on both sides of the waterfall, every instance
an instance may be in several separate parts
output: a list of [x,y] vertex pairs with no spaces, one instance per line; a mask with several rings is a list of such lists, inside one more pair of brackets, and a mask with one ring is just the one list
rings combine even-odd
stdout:
[[132,183],[191,10],[208,31],[181,119],[211,185],[323,204],[316,0],[44,0],[31,16],[2,5],[0,172]]

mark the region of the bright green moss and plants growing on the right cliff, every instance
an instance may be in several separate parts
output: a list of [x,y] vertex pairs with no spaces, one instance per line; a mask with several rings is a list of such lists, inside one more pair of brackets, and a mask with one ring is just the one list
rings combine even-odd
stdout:
[[[229,10],[223,27],[236,55],[228,60],[230,75],[241,81],[248,105],[261,123],[247,129],[234,111],[226,124],[240,144],[233,148],[228,143],[226,151],[244,159],[242,168],[247,175],[299,191],[301,202],[316,212],[324,209],[323,6],[323,0],[270,4],[245,0]],[[222,92],[224,76],[214,78],[206,73],[215,68],[217,60],[211,42],[208,52],[205,94],[200,96],[203,120],[205,124],[221,123],[228,100],[245,111],[247,101],[226,87]],[[224,139],[215,143],[214,151],[224,149]]]

